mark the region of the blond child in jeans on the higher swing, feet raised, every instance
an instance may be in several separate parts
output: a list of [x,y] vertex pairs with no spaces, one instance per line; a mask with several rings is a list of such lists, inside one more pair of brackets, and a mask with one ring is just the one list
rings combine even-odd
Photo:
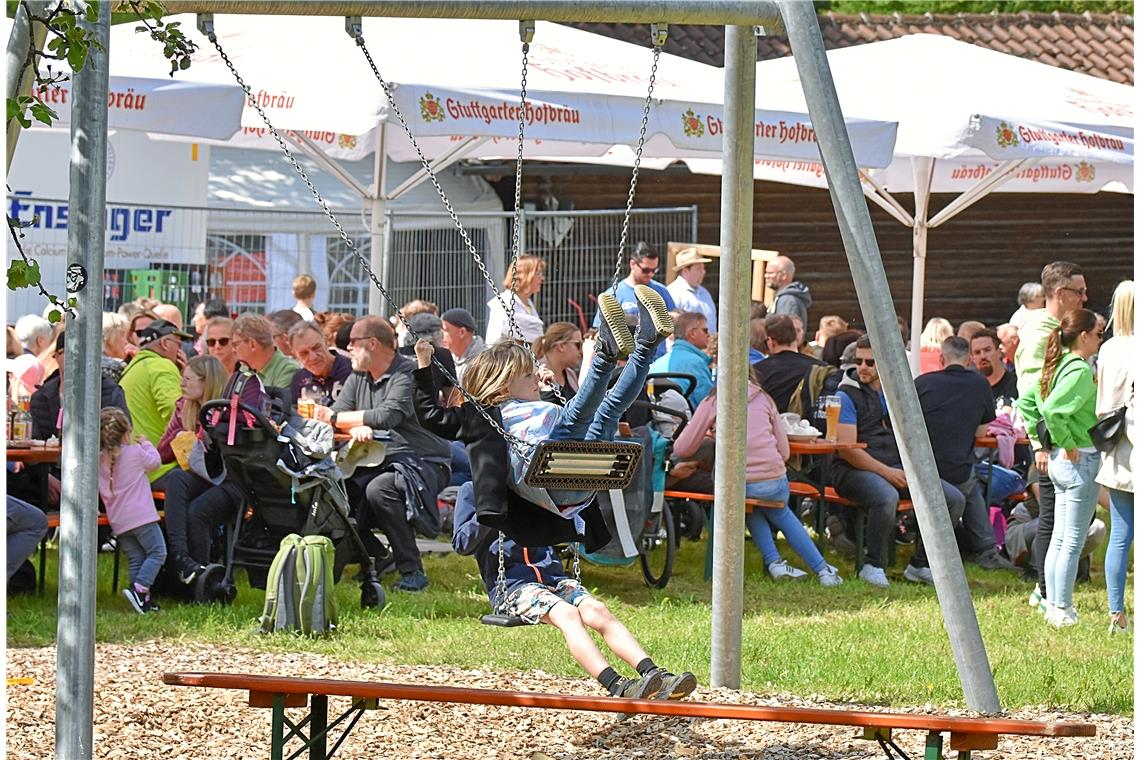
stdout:
[[[480,404],[498,406],[506,431],[528,443],[547,439],[612,441],[621,415],[645,385],[658,344],[673,334],[673,317],[661,296],[645,285],[634,289],[636,338],[613,294],[598,296],[602,321],[594,358],[578,393],[564,408],[539,399],[539,383],[549,383],[553,377],[545,367],[536,367],[530,351],[514,341],[499,341],[470,361],[463,375],[467,393]],[[420,341],[415,351],[420,368],[429,367],[433,346]],[[609,389],[618,361],[627,357],[618,382]],[[528,485],[524,477],[530,463],[516,449],[510,447],[511,490],[565,520],[580,522],[578,513],[593,501],[594,492]]]

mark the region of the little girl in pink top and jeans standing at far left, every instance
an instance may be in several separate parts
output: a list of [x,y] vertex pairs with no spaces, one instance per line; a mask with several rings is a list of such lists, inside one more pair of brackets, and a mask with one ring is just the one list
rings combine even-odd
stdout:
[[111,530],[127,553],[130,585],[123,596],[140,614],[158,611],[150,586],[166,562],[166,541],[146,476],[160,464],[154,444],[142,435],[132,435],[123,410],[104,407],[99,415],[99,497]]

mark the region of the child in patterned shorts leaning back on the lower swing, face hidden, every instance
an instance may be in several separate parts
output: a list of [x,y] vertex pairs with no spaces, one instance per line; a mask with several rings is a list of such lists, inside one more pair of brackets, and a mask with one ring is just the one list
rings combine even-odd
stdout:
[[[518,615],[532,626],[547,623],[557,628],[573,659],[612,696],[683,700],[697,688],[697,677],[692,673],[674,675],[658,667],[604,604],[577,580],[567,577],[553,547],[526,547],[511,539],[503,540],[500,547],[497,531],[479,524],[471,482],[459,488],[455,502],[451,546],[459,554],[475,556],[495,610]],[[498,582],[500,550],[502,588]],[[601,634],[610,651],[636,669],[637,676],[627,678],[613,670],[591,638],[589,629]]]

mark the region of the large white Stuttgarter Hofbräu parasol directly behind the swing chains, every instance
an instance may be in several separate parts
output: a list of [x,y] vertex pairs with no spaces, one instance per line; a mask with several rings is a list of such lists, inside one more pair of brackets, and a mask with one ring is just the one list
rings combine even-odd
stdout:
[[[234,81],[209,40],[193,32],[195,18],[176,21],[201,47],[188,75]],[[396,185],[385,177],[385,158],[417,156],[343,21],[218,16],[214,28],[274,125],[288,130],[286,139],[372,206],[373,235],[378,238],[383,204],[422,182],[425,173]],[[363,30],[400,112],[437,171],[461,158],[516,155],[522,63],[518,24],[365,18]],[[130,30],[114,30],[112,73],[162,71],[166,64],[160,51],[145,42]],[[320,56],[308,50],[320,50]],[[648,49],[539,22],[529,52],[527,156],[583,158],[629,152],[637,140],[651,62]],[[719,155],[720,106],[708,100],[719,99],[723,76],[716,67],[661,56],[653,90],[658,103],[646,125],[648,158]],[[246,107],[242,124],[230,145],[276,149],[254,108]],[[849,131],[861,165],[890,161],[895,124],[853,121]],[[762,156],[817,155],[804,109],[757,112],[756,145]],[[332,161],[368,154],[375,156],[376,179],[367,188]],[[381,256],[381,246],[374,245],[377,271]],[[378,295],[372,307],[381,308]]]

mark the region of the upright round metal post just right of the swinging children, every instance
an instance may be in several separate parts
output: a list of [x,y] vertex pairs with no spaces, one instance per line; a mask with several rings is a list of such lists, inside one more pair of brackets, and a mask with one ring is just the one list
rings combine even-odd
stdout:
[[712,533],[712,686],[740,688],[744,600],[744,452],[748,420],[748,313],[752,267],[752,146],[756,33],[725,27],[724,172],[720,177],[720,357],[717,370]]

